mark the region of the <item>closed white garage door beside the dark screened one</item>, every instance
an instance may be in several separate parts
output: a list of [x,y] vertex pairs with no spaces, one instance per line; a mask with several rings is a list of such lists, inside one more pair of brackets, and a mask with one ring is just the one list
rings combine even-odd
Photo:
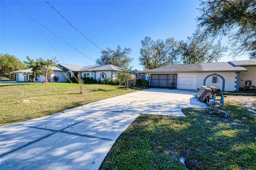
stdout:
[[195,74],[177,74],[177,89],[196,89]]

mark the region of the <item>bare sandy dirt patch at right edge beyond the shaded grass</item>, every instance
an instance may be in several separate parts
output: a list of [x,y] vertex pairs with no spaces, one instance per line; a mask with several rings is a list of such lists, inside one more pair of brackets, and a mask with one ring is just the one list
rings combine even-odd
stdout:
[[241,107],[248,108],[248,110],[256,116],[256,96],[225,95],[225,99],[227,99],[231,103],[240,105]]

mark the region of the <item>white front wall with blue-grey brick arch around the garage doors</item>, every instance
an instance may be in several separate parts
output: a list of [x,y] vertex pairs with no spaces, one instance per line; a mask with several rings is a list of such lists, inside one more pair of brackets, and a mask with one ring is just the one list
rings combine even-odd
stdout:
[[[148,75],[149,74],[149,75]],[[146,73],[145,80],[150,81],[151,74],[160,73]],[[185,73],[163,73],[163,74],[185,74]],[[191,73],[188,73],[191,74]],[[220,88],[222,91],[238,91],[240,72],[205,72],[194,73],[196,75],[196,89],[200,89],[203,85],[214,86]],[[216,76],[216,83],[212,83],[212,77]],[[177,76],[178,77],[178,76]],[[178,78],[177,78],[178,81]]]

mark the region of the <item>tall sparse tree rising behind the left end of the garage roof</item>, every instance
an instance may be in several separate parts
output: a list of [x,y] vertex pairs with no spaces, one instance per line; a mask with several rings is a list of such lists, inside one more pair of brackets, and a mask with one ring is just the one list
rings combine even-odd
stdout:
[[174,38],[154,41],[147,36],[141,44],[139,61],[144,69],[154,69],[176,63],[178,53],[177,42]]

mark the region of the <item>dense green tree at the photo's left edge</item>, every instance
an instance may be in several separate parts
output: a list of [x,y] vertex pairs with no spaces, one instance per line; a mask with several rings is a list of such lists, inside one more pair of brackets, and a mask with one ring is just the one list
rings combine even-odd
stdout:
[[24,64],[14,55],[0,53],[0,75],[14,79],[11,71],[16,71],[24,68]]

